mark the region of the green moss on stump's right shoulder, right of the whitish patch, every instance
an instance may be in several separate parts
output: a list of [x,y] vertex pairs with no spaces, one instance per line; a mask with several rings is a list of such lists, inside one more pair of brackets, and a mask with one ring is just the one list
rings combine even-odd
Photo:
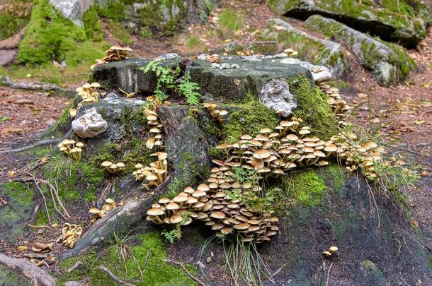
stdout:
[[337,133],[336,118],[326,102],[326,95],[302,75],[291,78],[288,84],[298,106],[292,116],[303,119],[314,136],[323,140],[334,136]]

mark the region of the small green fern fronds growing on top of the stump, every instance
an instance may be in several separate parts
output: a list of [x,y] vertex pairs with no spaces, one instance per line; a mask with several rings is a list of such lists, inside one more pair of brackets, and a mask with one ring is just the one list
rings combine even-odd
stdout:
[[156,73],[157,83],[154,95],[156,95],[161,101],[166,100],[169,97],[166,95],[164,90],[166,88],[175,87],[176,77],[178,76],[178,73],[180,73],[180,68],[173,70],[171,66],[161,66],[157,61],[150,61],[147,66],[138,69],[143,73],[148,73],[149,71]]

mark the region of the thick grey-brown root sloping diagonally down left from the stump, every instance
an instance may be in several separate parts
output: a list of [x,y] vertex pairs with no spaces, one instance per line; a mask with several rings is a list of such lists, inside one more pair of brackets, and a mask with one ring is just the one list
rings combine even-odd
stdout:
[[142,222],[142,225],[147,225],[145,215],[147,210],[152,206],[153,198],[160,196],[171,184],[171,174],[166,177],[166,180],[154,190],[152,196],[146,196],[143,193],[141,198],[135,198],[125,205],[116,208],[107,213],[103,218],[97,220],[91,228],[75,243],[73,249],[64,251],[59,258],[65,259],[71,256],[78,256],[89,251],[92,246],[96,246],[104,240],[109,240],[113,237],[114,232],[124,232],[131,230],[134,225]]

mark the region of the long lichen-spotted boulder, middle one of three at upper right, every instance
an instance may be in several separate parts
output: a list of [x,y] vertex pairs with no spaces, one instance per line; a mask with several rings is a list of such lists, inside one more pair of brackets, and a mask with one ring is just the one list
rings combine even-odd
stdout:
[[414,61],[401,48],[365,35],[336,20],[314,15],[306,20],[305,26],[346,44],[380,85],[399,83],[416,68]]

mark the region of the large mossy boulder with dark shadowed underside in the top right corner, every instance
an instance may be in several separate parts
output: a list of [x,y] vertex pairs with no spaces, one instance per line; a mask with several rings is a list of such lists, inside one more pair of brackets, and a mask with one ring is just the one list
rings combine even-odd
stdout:
[[404,47],[416,47],[426,37],[426,18],[431,13],[420,1],[355,1],[355,0],[268,0],[281,15],[305,20],[314,14],[334,18],[362,32],[377,35],[382,40],[399,42]]

